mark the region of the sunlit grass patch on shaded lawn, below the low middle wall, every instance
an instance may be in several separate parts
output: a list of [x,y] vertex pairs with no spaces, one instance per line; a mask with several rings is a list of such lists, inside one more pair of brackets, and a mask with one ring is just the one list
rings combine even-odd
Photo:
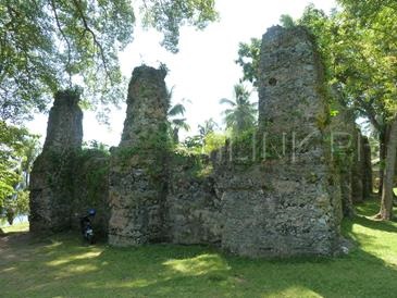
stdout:
[[169,260],[164,265],[189,275],[201,275],[212,271],[227,271],[231,268],[219,254],[201,254],[183,260]]

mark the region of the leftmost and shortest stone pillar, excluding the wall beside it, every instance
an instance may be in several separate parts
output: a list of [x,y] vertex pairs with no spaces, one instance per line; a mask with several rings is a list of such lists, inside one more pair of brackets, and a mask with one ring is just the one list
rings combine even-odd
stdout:
[[59,91],[50,110],[46,142],[30,174],[30,231],[71,226],[73,161],[82,147],[83,112],[76,90]]

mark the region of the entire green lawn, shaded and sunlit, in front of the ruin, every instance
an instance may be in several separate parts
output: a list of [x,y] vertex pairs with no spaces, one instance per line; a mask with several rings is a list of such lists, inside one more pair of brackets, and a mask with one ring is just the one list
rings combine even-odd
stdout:
[[397,297],[397,223],[373,221],[373,201],[357,210],[343,225],[357,246],[333,259],[250,260],[198,246],[89,247],[74,234],[32,239],[7,228],[0,297]]

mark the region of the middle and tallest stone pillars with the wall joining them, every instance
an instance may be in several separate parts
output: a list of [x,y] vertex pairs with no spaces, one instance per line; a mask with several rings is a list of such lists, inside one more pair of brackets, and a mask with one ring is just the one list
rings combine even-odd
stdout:
[[212,243],[250,257],[334,253],[342,189],[326,144],[319,61],[303,28],[269,29],[259,84],[259,141],[271,144],[265,160],[229,159],[229,144],[203,176],[193,174],[197,158],[181,162],[159,133],[169,105],[164,73],[136,69],[111,158],[110,244]]

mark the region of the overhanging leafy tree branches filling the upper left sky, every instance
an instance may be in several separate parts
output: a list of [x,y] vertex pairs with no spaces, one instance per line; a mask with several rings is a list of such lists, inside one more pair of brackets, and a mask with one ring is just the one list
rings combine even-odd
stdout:
[[[177,51],[179,26],[216,20],[212,0],[36,0],[0,2],[0,120],[44,111],[53,92],[83,83],[92,108],[124,98],[119,51],[133,40],[135,12]],[[34,38],[33,38],[34,37]]]

